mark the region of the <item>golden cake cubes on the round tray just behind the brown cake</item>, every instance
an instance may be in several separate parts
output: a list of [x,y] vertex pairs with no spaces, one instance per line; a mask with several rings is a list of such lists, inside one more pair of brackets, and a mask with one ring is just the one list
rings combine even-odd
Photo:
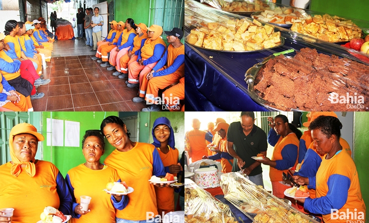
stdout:
[[190,31],[186,41],[197,47],[219,51],[255,51],[281,44],[281,33],[270,25],[248,19],[201,22]]

